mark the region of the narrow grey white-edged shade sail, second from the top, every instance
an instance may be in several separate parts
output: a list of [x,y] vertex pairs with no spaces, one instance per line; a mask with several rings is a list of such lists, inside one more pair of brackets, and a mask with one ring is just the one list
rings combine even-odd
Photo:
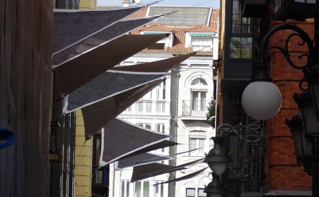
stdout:
[[[134,29],[137,29],[149,22],[162,17],[163,15],[132,18],[118,21],[116,24],[105,28],[94,35],[88,36],[87,38],[69,46],[53,55],[52,68],[59,67],[60,65],[73,60],[74,58],[83,55],[93,49],[104,45],[105,43],[116,39]],[[66,27],[67,28],[67,27]],[[125,46],[123,46],[124,48]],[[109,49],[110,50],[110,49]]]

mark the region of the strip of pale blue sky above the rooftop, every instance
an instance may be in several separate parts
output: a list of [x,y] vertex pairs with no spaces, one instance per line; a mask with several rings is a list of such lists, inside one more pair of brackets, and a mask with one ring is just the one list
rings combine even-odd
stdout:
[[[142,4],[149,4],[158,0],[142,0]],[[132,2],[132,1],[131,1]],[[98,6],[122,6],[123,0],[98,0]],[[204,4],[202,4],[204,3]],[[199,6],[208,6],[213,7],[215,9],[219,8],[219,0],[164,0],[163,2],[159,2],[155,5],[167,5],[167,6],[195,6],[201,4]],[[134,4],[132,4],[134,5]]]

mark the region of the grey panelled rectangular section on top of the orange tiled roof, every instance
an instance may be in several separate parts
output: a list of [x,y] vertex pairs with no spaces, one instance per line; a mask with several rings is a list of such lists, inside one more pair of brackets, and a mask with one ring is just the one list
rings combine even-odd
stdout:
[[149,16],[157,14],[165,14],[173,11],[168,16],[154,21],[152,24],[163,24],[167,26],[197,26],[207,25],[211,8],[208,7],[163,7],[152,6],[150,7]]

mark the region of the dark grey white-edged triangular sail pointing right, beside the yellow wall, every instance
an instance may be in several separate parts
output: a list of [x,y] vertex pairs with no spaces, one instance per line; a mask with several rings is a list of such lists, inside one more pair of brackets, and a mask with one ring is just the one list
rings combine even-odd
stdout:
[[102,129],[100,166],[166,139],[169,135],[115,118]]

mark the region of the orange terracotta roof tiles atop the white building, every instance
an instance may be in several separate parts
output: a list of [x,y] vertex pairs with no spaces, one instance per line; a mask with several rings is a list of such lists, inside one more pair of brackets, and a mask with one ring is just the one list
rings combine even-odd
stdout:
[[[102,8],[105,9],[105,8]],[[147,8],[135,12],[128,18],[137,18],[146,16]],[[165,50],[143,50],[141,53],[169,53],[169,54],[185,54],[191,52],[191,47],[185,47],[186,32],[212,32],[217,33],[219,18],[219,10],[213,9],[210,18],[209,26],[200,25],[195,27],[178,27],[178,26],[164,26],[161,24],[152,24],[141,27],[131,32],[131,34],[141,34],[141,31],[155,31],[155,32],[173,32],[174,42],[173,47],[168,47]],[[199,51],[197,54],[211,55],[213,51]]]

